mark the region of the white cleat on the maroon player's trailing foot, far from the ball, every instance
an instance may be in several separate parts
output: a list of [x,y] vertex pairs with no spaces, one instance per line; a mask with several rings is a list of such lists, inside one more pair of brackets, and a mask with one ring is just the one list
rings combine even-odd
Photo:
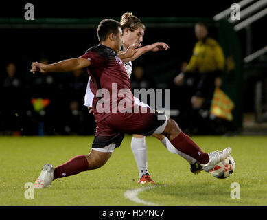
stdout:
[[45,188],[49,186],[54,179],[54,170],[51,164],[45,164],[40,172],[40,176],[34,183],[34,188]]

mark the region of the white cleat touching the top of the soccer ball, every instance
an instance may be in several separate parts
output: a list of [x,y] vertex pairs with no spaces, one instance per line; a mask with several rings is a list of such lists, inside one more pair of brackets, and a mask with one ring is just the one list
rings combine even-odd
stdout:
[[230,155],[232,149],[230,147],[225,148],[222,151],[213,151],[209,153],[209,162],[207,164],[201,164],[203,170],[209,172],[216,164],[227,158]]

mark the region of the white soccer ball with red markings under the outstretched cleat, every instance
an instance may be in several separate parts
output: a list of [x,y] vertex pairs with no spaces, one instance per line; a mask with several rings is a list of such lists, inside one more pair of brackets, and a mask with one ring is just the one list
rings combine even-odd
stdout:
[[222,162],[214,166],[212,170],[209,170],[209,173],[211,173],[213,177],[224,179],[229,177],[233,173],[233,170],[235,170],[235,161],[233,157],[229,155]]

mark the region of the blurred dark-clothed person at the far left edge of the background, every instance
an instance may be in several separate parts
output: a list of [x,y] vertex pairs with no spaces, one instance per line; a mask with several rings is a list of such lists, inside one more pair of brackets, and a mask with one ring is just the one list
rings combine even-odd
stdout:
[[0,133],[5,135],[20,135],[21,124],[19,122],[23,113],[23,82],[16,74],[16,64],[8,63],[6,74],[1,82],[0,96]]

